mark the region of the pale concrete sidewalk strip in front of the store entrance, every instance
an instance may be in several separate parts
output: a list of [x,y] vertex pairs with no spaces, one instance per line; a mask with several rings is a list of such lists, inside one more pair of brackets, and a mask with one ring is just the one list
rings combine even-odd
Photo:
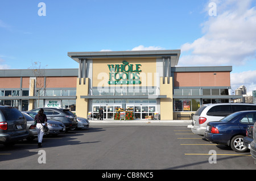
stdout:
[[192,120],[89,120],[90,125],[176,125],[189,126]]

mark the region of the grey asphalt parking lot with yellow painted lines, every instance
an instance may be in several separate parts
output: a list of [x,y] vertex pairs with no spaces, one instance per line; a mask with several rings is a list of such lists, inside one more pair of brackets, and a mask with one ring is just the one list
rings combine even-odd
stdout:
[[[42,161],[45,151],[46,163]],[[41,153],[41,154],[40,154]],[[214,153],[214,155],[212,155]],[[187,125],[91,124],[56,137],[0,145],[1,169],[172,170],[256,169],[250,152],[236,153],[193,134]]]

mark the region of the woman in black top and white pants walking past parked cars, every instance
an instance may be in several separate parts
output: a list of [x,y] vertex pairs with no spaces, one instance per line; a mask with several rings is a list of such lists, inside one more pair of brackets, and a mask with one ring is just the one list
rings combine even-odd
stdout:
[[44,114],[44,110],[40,108],[38,114],[35,116],[36,131],[38,131],[38,147],[42,147],[42,141],[44,136],[44,125],[47,125],[47,117]]

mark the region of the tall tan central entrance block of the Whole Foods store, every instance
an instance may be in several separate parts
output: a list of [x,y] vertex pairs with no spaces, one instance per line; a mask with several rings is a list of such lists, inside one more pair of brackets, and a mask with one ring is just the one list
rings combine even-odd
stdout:
[[171,67],[180,50],[123,52],[68,52],[79,63],[76,114],[94,118],[102,107],[104,119],[114,119],[119,108],[133,112],[133,119],[158,113],[172,119]]

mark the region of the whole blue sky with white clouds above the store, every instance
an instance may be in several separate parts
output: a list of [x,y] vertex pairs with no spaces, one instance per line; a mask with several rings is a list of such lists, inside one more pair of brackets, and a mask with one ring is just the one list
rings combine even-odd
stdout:
[[[46,16],[39,16],[40,2]],[[210,16],[209,3],[216,5]],[[242,4],[241,4],[242,2]],[[78,68],[68,52],[181,49],[178,66],[232,65],[232,89],[256,90],[255,0],[0,2],[0,69]],[[255,34],[255,35],[254,35]]]

